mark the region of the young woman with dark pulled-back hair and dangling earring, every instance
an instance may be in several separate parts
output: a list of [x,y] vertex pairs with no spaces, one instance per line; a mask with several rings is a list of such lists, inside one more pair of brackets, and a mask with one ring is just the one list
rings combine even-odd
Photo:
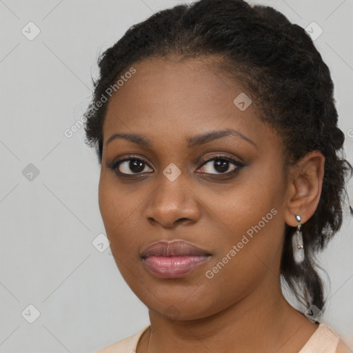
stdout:
[[341,227],[352,167],[303,28],[201,0],[132,26],[99,68],[85,114],[99,208],[150,315],[99,352],[350,352],[319,321],[314,256]]

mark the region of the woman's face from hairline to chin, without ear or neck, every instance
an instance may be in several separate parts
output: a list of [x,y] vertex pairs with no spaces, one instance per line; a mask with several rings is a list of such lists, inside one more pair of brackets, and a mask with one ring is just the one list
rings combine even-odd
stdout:
[[[133,65],[103,126],[99,207],[114,259],[150,310],[181,320],[277,290],[283,248],[281,139],[256,117],[252,97],[211,67],[210,59]],[[196,139],[224,130],[234,132]],[[208,256],[141,257],[148,245],[174,240]],[[163,261],[174,270],[146,265]],[[185,273],[183,261],[199,265]]]

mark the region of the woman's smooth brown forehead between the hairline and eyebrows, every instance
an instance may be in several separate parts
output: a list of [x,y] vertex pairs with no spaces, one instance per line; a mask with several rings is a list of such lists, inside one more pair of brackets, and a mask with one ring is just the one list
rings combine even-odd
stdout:
[[222,74],[213,59],[148,59],[132,67],[136,72],[108,103],[105,142],[117,132],[137,132],[170,142],[180,137],[181,142],[196,132],[226,128],[256,139],[267,128],[251,103],[245,110],[234,103],[245,92]]

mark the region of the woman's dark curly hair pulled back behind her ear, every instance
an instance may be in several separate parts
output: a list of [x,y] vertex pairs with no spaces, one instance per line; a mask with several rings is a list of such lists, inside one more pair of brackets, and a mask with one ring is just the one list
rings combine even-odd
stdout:
[[218,58],[214,65],[250,92],[259,119],[283,138],[285,171],[307,152],[319,150],[325,157],[321,199],[302,227],[305,261],[294,262],[291,239],[296,228],[288,225],[281,258],[281,276],[296,298],[323,311],[315,254],[341,228],[352,166],[344,159],[345,135],[337,126],[330,70],[312,39],[273,8],[242,0],[182,4],[135,24],[101,54],[100,77],[93,79],[93,99],[84,114],[85,143],[96,148],[99,163],[109,100],[97,103],[132,63],[168,54]]

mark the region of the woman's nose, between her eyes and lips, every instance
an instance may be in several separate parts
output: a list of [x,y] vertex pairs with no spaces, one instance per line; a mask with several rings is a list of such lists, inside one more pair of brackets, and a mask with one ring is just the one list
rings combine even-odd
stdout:
[[195,223],[200,218],[199,199],[182,176],[170,181],[162,175],[150,198],[145,214],[153,225],[172,228],[180,223]]

